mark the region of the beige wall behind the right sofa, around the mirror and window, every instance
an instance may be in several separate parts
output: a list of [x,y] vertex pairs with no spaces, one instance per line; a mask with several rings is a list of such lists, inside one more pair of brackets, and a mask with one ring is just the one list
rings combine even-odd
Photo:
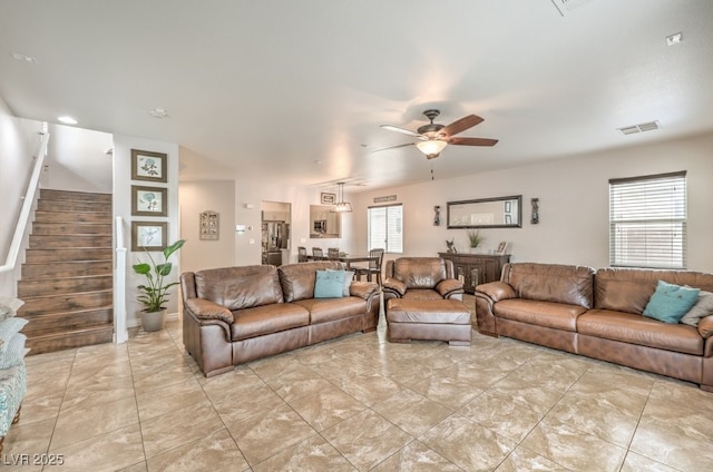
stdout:
[[[636,139],[636,136],[626,139]],[[635,141],[633,141],[635,142]],[[713,272],[713,134],[569,159],[472,175],[449,180],[368,191],[352,197],[354,250],[367,248],[367,207],[373,198],[395,194],[403,203],[404,253],[426,256],[446,250],[456,239],[467,250],[466,232],[446,228],[446,203],[470,198],[522,195],[522,228],[485,229],[485,248],[510,242],[512,260],[608,265],[608,179],[687,170],[688,268]],[[447,165],[443,155],[437,165]],[[530,198],[539,198],[540,223],[530,220]],[[432,225],[433,206],[442,225]],[[393,256],[388,256],[393,257]]]

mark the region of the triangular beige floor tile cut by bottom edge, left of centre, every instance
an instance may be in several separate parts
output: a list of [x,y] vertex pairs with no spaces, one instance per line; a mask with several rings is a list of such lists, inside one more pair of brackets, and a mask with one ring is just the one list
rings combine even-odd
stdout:
[[272,458],[253,465],[255,472],[273,471],[329,471],[351,472],[349,463],[324,437],[314,435],[292,445]]

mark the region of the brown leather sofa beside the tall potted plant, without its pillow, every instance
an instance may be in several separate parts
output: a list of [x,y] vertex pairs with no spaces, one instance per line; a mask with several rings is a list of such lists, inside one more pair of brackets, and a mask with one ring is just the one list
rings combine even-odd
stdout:
[[183,341],[206,377],[260,357],[377,327],[379,286],[314,298],[316,271],[340,262],[226,267],[180,275]]

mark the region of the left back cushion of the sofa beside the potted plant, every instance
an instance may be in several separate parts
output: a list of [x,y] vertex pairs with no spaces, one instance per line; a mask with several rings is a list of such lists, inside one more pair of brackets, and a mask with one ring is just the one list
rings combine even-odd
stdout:
[[195,273],[196,295],[229,311],[282,302],[282,289],[274,266],[242,266]]

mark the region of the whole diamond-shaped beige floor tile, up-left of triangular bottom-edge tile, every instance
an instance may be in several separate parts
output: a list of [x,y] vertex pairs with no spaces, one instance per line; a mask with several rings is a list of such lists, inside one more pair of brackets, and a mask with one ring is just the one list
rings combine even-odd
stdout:
[[228,431],[251,465],[316,434],[286,404],[233,423],[228,425]]

